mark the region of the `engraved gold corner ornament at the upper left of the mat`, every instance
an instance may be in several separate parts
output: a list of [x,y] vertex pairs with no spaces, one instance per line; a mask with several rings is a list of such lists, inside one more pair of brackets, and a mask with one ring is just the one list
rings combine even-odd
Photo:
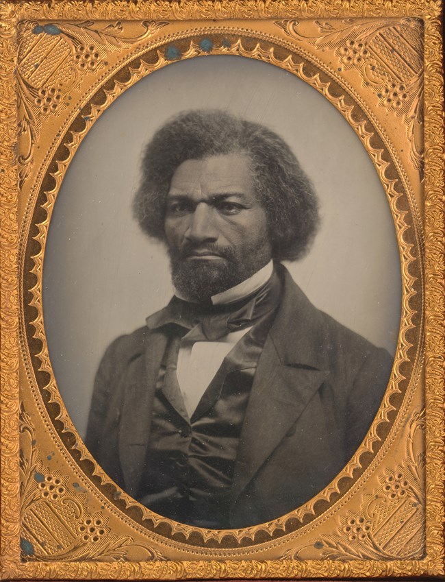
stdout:
[[[68,107],[73,91],[88,75],[107,66],[107,54],[150,38],[166,22],[142,21],[140,34],[130,34],[128,23],[36,21],[19,23],[18,34],[18,158],[19,185],[32,169],[34,144],[42,123]],[[131,33],[134,33],[134,29]]]

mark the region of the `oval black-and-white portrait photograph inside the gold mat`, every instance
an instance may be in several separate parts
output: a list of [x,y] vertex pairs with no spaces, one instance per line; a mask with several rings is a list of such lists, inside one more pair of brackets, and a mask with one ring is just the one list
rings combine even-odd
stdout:
[[173,64],[120,97],[66,174],[43,283],[92,457],[183,524],[303,505],[390,379],[401,282],[383,187],[340,113],[269,64]]

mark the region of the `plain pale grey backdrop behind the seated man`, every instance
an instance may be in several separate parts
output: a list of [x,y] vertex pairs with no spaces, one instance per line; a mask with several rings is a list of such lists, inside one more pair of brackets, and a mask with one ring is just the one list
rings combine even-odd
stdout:
[[314,88],[271,64],[236,56],[175,62],[127,90],[94,124],[51,218],[44,324],[58,388],[82,437],[105,348],[171,297],[164,248],[138,230],[131,201],[144,145],[168,117],[192,108],[229,110],[288,142],[322,217],[312,250],[288,269],[318,308],[394,354],[401,313],[394,223],[353,129]]

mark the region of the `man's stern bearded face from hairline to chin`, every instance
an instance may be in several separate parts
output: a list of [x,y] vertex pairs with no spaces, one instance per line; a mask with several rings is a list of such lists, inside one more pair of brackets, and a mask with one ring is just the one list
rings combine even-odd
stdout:
[[170,184],[164,228],[173,283],[190,300],[208,300],[270,260],[266,212],[244,155],[183,162]]

